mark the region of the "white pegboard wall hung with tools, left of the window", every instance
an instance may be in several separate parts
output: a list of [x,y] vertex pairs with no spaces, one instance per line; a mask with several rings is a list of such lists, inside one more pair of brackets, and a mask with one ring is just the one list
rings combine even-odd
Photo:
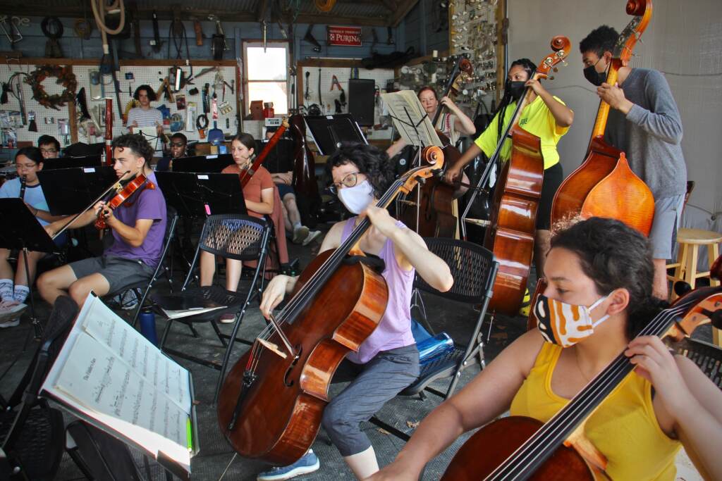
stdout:
[[[193,66],[193,74],[199,74],[204,68],[206,67]],[[120,71],[118,71],[116,74],[121,90],[121,110],[123,112],[126,112],[126,106],[128,102],[130,102],[130,100],[132,99],[132,94],[135,91],[136,87],[139,87],[142,84],[148,84],[152,89],[157,91],[157,89],[160,88],[160,84],[162,83],[161,79],[168,76],[168,69],[168,66],[121,66]],[[9,77],[16,71],[23,71],[27,73],[33,70],[35,70],[35,66],[17,66],[17,64],[13,63],[11,63],[10,65],[3,63],[0,64],[0,79],[2,81],[7,81],[7,79],[9,79]],[[232,107],[230,112],[227,112],[227,114],[224,114],[219,110],[217,120],[218,128],[220,128],[225,133],[235,133],[235,131],[238,130],[238,125],[235,118],[235,114],[237,112],[236,94],[238,92],[238,84],[235,81],[235,70],[235,66],[218,67],[219,74],[222,75],[222,77],[225,79],[225,81],[228,82],[228,84],[232,84],[234,86],[233,92],[230,91],[230,87],[225,87],[225,97],[222,88],[223,84],[222,82],[218,82],[219,79],[216,76],[216,72],[213,71],[209,74],[201,76],[198,79],[195,79],[193,85],[186,85],[180,91],[173,92],[174,96],[176,96],[177,94],[184,94],[186,96],[185,109],[178,110],[178,106],[176,105],[175,101],[170,102],[169,100],[163,98],[162,95],[155,102],[152,102],[152,107],[155,108],[165,105],[165,107],[169,108],[170,115],[173,115],[175,113],[180,114],[183,118],[183,125],[180,132],[183,133],[186,137],[188,137],[189,141],[197,140],[199,139],[199,132],[196,129],[196,117],[203,113],[201,92],[203,90],[204,84],[208,83],[209,94],[211,96],[214,94],[214,92],[217,94],[218,104],[220,105],[222,100],[225,100]],[[85,87],[88,110],[90,111],[92,117],[101,124],[99,125],[100,129],[96,132],[95,136],[89,134],[87,129],[83,128],[82,125],[78,125],[77,139],[79,142],[85,142],[87,144],[103,141],[103,136],[105,134],[105,126],[103,125],[103,123],[105,122],[105,118],[103,115],[101,115],[101,113],[102,110],[105,109],[104,97],[110,97],[113,100],[113,137],[119,136],[123,133],[127,133],[127,128],[125,125],[123,125],[121,121],[120,113],[118,112],[118,106],[116,105],[117,97],[116,89],[113,85],[113,77],[110,75],[101,76],[101,78],[103,79],[103,98],[101,98],[100,100],[92,100],[92,71],[97,71],[97,66],[73,66],[73,73],[75,74],[78,82],[77,91],[79,91],[82,87]],[[186,76],[190,74],[190,68],[188,66],[184,66],[183,71],[185,72]],[[126,73],[132,73],[133,79],[126,79]],[[51,95],[59,94],[63,91],[63,88],[60,85],[57,85],[52,78],[46,79],[43,82],[43,86],[45,87],[45,91]],[[198,94],[191,95],[188,93],[188,91],[193,89],[193,87],[199,89]],[[93,91],[95,91],[95,89],[93,89]],[[28,131],[27,125],[14,125],[14,131],[17,133],[17,140],[32,141],[33,144],[37,144],[37,140],[40,136],[51,135],[57,138],[58,141],[60,141],[61,147],[69,145],[71,143],[71,136],[69,135],[70,131],[67,130],[67,135],[63,135],[58,130],[58,119],[69,119],[69,115],[71,115],[69,113],[69,108],[67,106],[60,107],[61,110],[58,111],[43,107],[42,105],[38,104],[38,102],[32,99],[32,89],[30,88],[30,85],[25,84],[25,82],[22,82],[22,93],[25,100],[25,109],[28,112],[35,112],[35,122],[38,125],[38,132]],[[12,94],[8,95],[8,100],[9,102],[7,104],[0,105],[0,112],[18,111],[18,100],[16,100]],[[193,115],[193,119],[190,122],[190,125],[192,125],[192,129],[186,129],[186,125],[188,125],[188,123],[186,123],[186,115],[188,114],[188,112],[191,112],[192,109],[189,107],[192,107],[191,104],[193,103],[195,103],[196,107],[195,115]],[[212,128],[212,113],[208,112],[206,113],[206,116],[209,120],[208,128]],[[2,118],[4,118],[4,115],[0,117],[0,120]],[[228,121],[227,123],[226,120]],[[170,135],[171,133],[175,133],[175,131],[170,130],[169,123],[164,122],[164,127],[165,133],[168,133],[168,135]]]

